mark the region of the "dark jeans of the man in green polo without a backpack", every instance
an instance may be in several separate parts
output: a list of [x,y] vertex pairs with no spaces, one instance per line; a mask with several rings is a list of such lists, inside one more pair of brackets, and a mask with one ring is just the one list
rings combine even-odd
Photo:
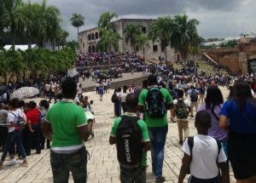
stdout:
[[87,151],[82,147],[71,154],[50,152],[50,164],[54,183],[67,183],[69,172],[73,174],[74,183],[86,183]]

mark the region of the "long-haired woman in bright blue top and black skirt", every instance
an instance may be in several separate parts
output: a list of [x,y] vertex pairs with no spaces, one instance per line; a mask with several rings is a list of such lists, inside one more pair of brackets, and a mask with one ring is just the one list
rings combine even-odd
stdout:
[[221,110],[219,126],[230,129],[228,154],[237,182],[256,182],[256,100],[245,81],[237,81]]

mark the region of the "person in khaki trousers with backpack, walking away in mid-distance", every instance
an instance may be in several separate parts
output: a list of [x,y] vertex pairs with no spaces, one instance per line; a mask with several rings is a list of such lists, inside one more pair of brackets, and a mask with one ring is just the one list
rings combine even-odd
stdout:
[[177,90],[178,99],[173,100],[174,109],[172,110],[172,117],[177,117],[177,129],[179,137],[179,145],[183,145],[183,130],[184,137],[189,136],[189,112],[190,112],[190,103],[189,100],[183,98],[183,90]]

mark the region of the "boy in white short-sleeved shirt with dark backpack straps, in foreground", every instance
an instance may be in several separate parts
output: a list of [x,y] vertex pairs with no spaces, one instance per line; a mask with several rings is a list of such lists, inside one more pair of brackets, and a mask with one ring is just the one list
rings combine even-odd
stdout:
[[[220,142],[208,135],[211,127],[211,115],[206,111],[195,115],[195,128],[198,134],[185,140],[182,167],[178,183],[183,183],[186,174],[190,174],[190,183],[227,183],[229,180],[226,166],[227,157]],[[221,170],[221,177],[219,176]]]

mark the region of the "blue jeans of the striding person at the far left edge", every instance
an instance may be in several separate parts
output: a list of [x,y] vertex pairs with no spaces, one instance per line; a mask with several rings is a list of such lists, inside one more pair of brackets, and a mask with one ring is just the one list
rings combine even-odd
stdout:
[[11,148],[13,148],[14,142],[16,142],[16,146],[18,148],[18,152],[20,153],[21,157],[23,159],[26,159],[26,153],[25,153],[24,147],[22,145],[20,131],[15,130],[7,135],[5,145],[3,148],[3,155],[1,157],[1,162],[4,161],[8,152],[12,152]]

